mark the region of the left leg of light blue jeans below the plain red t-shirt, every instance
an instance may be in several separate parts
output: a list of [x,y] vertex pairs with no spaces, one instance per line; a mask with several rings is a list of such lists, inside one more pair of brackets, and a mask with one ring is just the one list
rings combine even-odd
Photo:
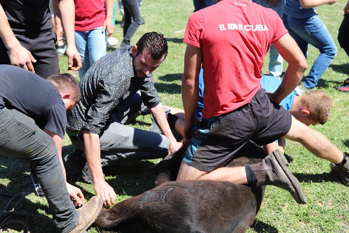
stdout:
[[90,58],[87,46],[87,32],[88,31],[75,31],[75,46],[81,56],[82,63],[82,67],[78,71],[80,79],[82,79],[90,67]]

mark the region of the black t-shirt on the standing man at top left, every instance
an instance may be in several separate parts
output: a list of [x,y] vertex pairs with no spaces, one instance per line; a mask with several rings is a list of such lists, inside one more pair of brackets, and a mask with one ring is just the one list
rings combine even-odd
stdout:
[[39,37],[51,34],[49,0],[0,0],[15,36]]

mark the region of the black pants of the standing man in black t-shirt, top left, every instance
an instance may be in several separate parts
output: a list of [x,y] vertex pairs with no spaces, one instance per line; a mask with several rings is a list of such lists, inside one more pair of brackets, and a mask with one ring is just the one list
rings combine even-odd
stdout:
[[[16,37],[20,44],[31,52],[36,59],[33,63],[34,71],[40,77],[46,79],[52,74],[59,73],[58,54],[54,47],[57,39],[56,34],[52,31],[51,34],[36,38]],[[10,65],[8,50],[0,38],[0,64]]]

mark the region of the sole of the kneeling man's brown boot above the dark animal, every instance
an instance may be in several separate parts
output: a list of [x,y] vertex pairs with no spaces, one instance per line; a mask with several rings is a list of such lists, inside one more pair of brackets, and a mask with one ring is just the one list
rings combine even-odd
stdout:
[[275,150],[273,151],[273,155],[274,158],[276,159],[276,161],[279,163],[280,167],[282,168],[283,172],[285,173],[285,175],[288,177],[289,181],[291,182],[292,186],[295,189],[295,194],[297,196],[296,202],[298,204],[306,204],[306,198],[305,198],[305,194],[303,192],[302,187],[300,186],[299,181],[297,180],[297,178],[290,172],[290,170],[288,169],[288,161],[285,158],[285,155],[283,155],[283,153],[279,150]]

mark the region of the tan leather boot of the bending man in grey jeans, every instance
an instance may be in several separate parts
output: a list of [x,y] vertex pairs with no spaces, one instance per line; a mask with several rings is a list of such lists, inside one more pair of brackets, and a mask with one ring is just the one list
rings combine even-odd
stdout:
[[101,212],[102,205],[102,198],[94,196],[80,207],[77,210],[80,214],[79,223],[77,223],[76,227],[70,233],[85,233],[86,229],[94,223],[99,212]]

